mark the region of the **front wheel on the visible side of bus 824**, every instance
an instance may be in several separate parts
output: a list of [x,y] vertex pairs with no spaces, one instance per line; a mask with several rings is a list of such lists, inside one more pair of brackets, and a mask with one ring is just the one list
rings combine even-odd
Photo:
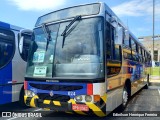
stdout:
[[121,111],[124,111],[124,109],[126,108],[128,104],[128,100],[129,100],[129,92],[128,92],[127,87],[125,86],[123,88],[123,93],[122,93],[122,104],[120,106]]

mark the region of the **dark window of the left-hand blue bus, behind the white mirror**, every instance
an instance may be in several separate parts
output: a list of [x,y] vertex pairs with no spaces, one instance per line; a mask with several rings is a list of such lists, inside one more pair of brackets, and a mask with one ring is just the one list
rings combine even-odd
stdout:
[[31,35],[22,34],[22,36],[23,36],[23,50],[22,50],[22,53],[20,53],[20,55],[24,61],[27,61],[29,48],[31,46]]

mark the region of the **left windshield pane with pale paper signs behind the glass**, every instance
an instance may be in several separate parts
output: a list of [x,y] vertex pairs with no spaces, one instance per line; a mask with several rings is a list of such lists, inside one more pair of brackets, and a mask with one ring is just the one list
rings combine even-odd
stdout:
[[[55,50],[55,41],[57,38],[59,24],[46,26],[50,31],[50,41],[47,46],[47,34],[42,28],[36,28],[33,34],[33,45],[30,50],[27,67],[27,76],[32,77],[52,77],[53,54]],[[39,72],[39,70],[41,72]]]

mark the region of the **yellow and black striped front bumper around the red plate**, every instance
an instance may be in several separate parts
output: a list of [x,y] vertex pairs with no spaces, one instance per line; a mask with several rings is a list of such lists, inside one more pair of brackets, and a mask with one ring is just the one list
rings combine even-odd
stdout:
[[[52,101],[52,100],[41,100],[37,95],[34,97],[24,96],[25,104],[31,107],[39,107],[47,110],[56,110],[60,112],[78,113],[82,115],[96,115],[99,117],[106,116],[106,103],[104,102],[101,106],[98,103],[76,103],[74,99],[70,99],[68,102]],[[102,103],[102,101],[101,101]],[[73,110],[74,105],[83,105],[88,107],[87,110]]]

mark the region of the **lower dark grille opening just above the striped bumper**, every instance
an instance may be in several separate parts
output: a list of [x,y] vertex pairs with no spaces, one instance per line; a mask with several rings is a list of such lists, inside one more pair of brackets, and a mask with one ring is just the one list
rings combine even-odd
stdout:
[[37,95],[41,100],[52,100],[52,101],[60,101],[60,102],[67,102],[70,100],[70,97],[68,95],[54,94],[53,96],[50,96],[47,93],[37,93]]

